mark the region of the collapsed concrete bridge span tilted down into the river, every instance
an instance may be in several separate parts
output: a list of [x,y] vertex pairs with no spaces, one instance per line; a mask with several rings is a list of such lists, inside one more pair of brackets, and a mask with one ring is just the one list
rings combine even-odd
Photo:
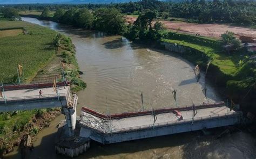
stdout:
[[114,119],[82,111],[80,136],[107,144],[234,125],[239,124],[242,118],[241,112],[230,111],[225,105],[197,109],[194,117],[193,111],[187,107],[187,110],[179,111],[183,120],[180,120],[177,112],[170,110],[155,115],[152,112]]

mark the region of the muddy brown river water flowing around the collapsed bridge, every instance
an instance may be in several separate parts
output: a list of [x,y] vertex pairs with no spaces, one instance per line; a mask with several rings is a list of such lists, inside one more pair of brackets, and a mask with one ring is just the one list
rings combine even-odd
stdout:
[[[202,73],[196,82],[193,64],[176,54],[150,46],[136,45],[126,38],[60,25],[52,21],[23,18],[68,35],[76,46],[76,57],[87,88],[78,92],[78,115],[82,106],[101,112],[117,113],[157,107],[176,107],[172,90],[177,90],[178,106],[216,102],[221,98],[205,81]],[[207,97],[203,88],[207,85]],[[53,140],[56,125],[64,116],[51,122],[36,136],[31,158],[65,158],[55,154]],[[220,131],[220,130],[219,130]],[[214,133],[219,133],[215,130]],[[215,140],[200,132],[161,136],[91,148],[77,158],[255,158],[250,135],[235,133]],[[14,151],[8,158],[19,158]]]

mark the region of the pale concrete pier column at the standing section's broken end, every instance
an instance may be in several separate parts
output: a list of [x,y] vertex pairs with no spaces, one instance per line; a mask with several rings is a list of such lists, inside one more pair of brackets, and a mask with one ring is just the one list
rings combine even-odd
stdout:
[[69,136],[75,135],[76,121],[77,121],[77,111],[75,107],[63,109],[64,115],[66,116],[66,125],[69,128]]

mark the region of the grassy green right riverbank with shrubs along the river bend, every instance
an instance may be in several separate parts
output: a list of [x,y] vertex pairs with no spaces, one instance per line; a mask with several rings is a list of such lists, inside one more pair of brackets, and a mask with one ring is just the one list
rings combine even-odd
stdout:
[[[208,67],[207,78],[218,86],[224,98],[240,104],[245,112],[256,113],[253,106],[256,102],[256,69],[253,60],[250,60],[253,53],[240,48],[228,54],[219,40],[174,32],[159,42],[165,49],[178,52],[185,59],[198,64],[200,69],[206,70]],[[178,47],[182,47],[182,51],[175,49]]]

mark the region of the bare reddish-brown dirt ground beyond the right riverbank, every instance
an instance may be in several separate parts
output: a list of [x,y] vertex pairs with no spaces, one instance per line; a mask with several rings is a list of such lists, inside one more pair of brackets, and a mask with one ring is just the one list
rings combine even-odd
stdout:
[[[137,18],[132,16],[125,16],[127,23],[132,24]],[[247,35],[256,38],[256,30],[252,28],[237,27],[230,25],[220,24],[194,24],[185,22],[175,22],[160,20],[161,23],[169,30],[189,33],[189,34],[200,34],[205,37],[220,38],[221,34],[226,31],[233,32],[237,35]]]

